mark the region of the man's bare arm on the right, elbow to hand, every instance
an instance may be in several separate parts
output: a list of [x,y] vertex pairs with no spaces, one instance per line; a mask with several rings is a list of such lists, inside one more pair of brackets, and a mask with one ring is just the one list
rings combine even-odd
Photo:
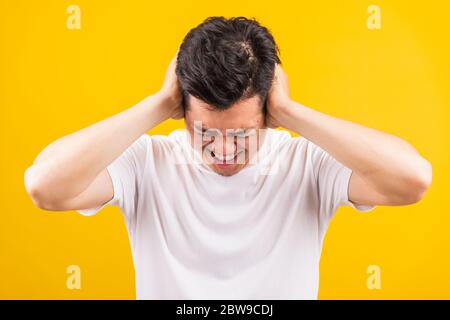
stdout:
[[431,164],[406,141],[291,100],[287,76],[279,65],[267,122],[301,134],[352,169],[349,200],[353,203],[411,204],[422,199],[431,184]]

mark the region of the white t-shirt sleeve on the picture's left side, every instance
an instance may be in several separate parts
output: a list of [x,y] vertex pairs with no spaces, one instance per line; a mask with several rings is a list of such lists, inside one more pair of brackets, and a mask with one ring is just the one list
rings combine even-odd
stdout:
[[143,134],[106,167],[113,185],[113,198],[98,207],[76,211],[90,216],[107,205],[114,205],[127,218],[134,215],[149,148],[150,136]]

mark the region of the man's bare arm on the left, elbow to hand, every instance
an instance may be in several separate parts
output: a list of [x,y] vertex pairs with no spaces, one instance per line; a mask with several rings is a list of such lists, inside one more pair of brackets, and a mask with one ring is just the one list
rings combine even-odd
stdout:
[[142,134],[170,117],[180,117],[175,59],[158,93],[54,141],[39,153],[25,171],[26,190],[38,207],[56,211],[90,208],[113,197],[106,167]]

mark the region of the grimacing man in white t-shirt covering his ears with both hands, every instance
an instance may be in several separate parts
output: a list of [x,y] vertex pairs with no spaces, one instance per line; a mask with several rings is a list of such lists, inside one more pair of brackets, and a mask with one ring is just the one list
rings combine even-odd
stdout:
[[[277,51],[255,20],[208,18],[156,94],[37,156],[32,200],[85,215],[119,206],[138,299],[316,299],[337,208],[415,203],[431,165],[395,136],[293,101]],[[182,117],[186,130],[146,134]]]

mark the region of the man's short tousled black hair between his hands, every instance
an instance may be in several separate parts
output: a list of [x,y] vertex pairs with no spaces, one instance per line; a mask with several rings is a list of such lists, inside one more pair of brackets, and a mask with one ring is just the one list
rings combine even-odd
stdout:
[[275,65],[281,64],[278,54],[270,31],[254,18],[207,18],[189,31],[178,52],[183,106],[188,94],[216,110],[258,94],[265,107]]

